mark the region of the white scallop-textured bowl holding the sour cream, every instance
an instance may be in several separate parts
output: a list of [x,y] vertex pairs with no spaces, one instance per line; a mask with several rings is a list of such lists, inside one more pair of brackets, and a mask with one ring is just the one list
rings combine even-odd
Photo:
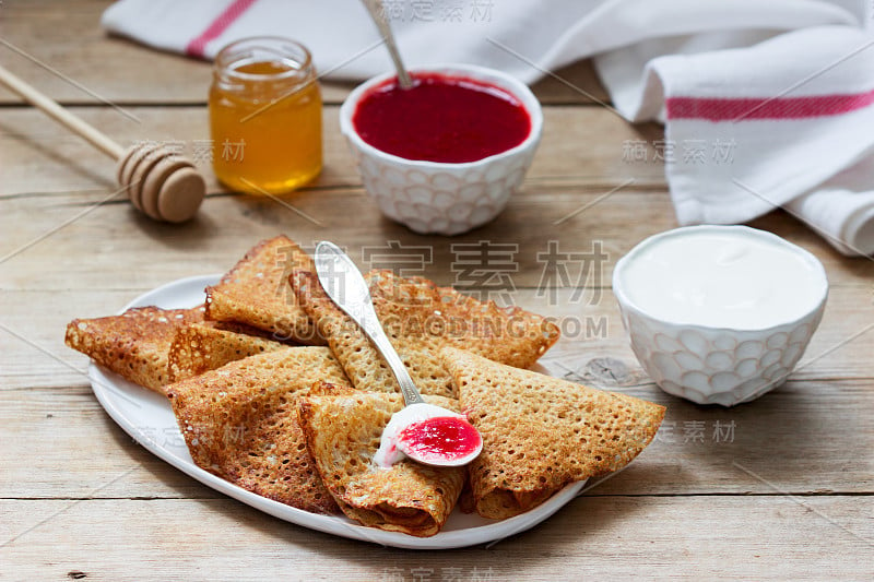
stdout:
[[[653,317],[629,297],[625,272],[651,246],[665,237],[688,233],[727,231],[779,245],[810,266],[812,300],[803,313],[761,328],[709,326]],[[781,265],[775,264],[773,269],[779,273]],[[672,273],[664,276],[671,277]],[[823,317],[828,281],[813,254],[776,235],[745,226],[693,226],[656,235],[635,247],[616,263],[613,290],[631,349],[662,390],[698,404],[733,406],[757,399],[786,381]]]

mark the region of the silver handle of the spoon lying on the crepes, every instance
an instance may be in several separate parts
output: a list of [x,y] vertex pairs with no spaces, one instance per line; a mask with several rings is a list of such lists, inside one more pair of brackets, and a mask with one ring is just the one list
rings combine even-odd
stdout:
[[425,402],[410,378],[406,366],[382,330],[374,310],[367,282],[352,259],[333,242],[322,240],[316,246],[316,273],[328,297],[361,326],[382,354],[401,387],[404,403],[409,406]]

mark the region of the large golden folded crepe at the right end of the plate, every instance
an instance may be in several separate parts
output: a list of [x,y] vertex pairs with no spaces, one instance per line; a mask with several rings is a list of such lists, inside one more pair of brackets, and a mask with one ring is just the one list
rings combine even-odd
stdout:
[[483,437],[483,452],[468,467],[484,518],[523,513],[570,483],[622,468],[664,417],[658,404],[460,349],[445,349],[442,363]]

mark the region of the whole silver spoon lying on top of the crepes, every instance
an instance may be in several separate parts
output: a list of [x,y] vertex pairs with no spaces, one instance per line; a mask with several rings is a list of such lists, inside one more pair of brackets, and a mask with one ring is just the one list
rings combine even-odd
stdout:
[[[324,293],[328,294],[343,312],[361,326],[364,333],[374,342],[376,348],[382,354],[389,368],[391,368],[391,372],[394,375],[401,388],[401,394],[403,394],[405,404],[405,414],[403,418],[408,416],[411,418],[417,417],[418,419],[435,416],[459,417],[460,415],[458,413],[428,404],[422,397],[418,389],[416,389],[415,382],[413,382],[413,379],[410,377],[410,372],[406,371],[406,366],[403,365],[401,357],[394,351],[394,346],[391,345],[386,332],[382,330],[382,324],[379,323],[376,310],[374,309],[374,302],[370,298],[370,289],[367,287],[367,282],[364,281],[361,271],[358,271],[358,268],[352,262],[352,259],[333,242],[322,240],[316,246],[316,273],[319,276],[319,282]],[[416,408],[415,414],[409,414],[413,412],[412,408]],[[437,414],[435,414],[435,409]],[[392,419],[395,418],[400,419],[402,417],[395,414]],[[464,423],[468,424],[466,420],[464,420]],[[406,421],[404,420],[403,424],[406,424]],[[415,424],[415,421],[409,423],[409,425],[412,424]],[[403,430],[403,426],[398,425],[398,420],[389,423],[389,427],[394,431],[395,436]],[[472,426],[470,426],[470,429],[473,431],[476,430]],[[405,448],[403,443],[399,443],[398,448],[408,456],[420,463],[439,466],[459,466],[469,463],[480,454],[483,448],[482,438],[480,438],[479,441],[480,444],[473,452],[454,459],[424,458],[418,454],[416,450]]]

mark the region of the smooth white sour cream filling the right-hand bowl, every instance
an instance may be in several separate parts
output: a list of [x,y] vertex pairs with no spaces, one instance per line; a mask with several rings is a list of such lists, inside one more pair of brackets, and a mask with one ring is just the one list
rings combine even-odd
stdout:
[[614,283],[645,313],[672,323],[758,330],[793,321],[825,297],[822,264],[761,230],[692,227],[645,242]]

